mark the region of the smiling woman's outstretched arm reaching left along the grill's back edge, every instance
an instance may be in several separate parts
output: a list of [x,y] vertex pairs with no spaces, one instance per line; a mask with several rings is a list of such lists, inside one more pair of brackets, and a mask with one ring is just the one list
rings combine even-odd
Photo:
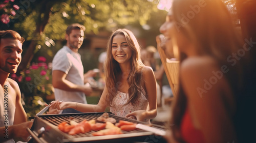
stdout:
[[108,90],[106,87],[103,90],[103,93],[100,97],[99,103],[97,105],[93,104],[82,104],[77,102],[59,102],[54,101],[51,105],[53,109],[63,110],[67,108],[73,108],[80,112],[103,112],[106,108],[106,93],[108,93]]

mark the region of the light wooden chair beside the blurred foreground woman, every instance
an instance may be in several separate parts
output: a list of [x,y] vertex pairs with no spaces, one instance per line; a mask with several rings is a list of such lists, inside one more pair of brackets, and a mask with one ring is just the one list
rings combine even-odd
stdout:
[[[157,41],[157,49],[160,55],[161,62],[164,67],[165,74],[167,76],[170,89],[172,89],[174,97],[177,96],[178,93],[178,81],[179,81],[179,61],[172,61],[166,58],[166,54],[161,47],[161,41],[159,36],[156,37]],[[165,99],[165,103],[172,102],[173,97]]]

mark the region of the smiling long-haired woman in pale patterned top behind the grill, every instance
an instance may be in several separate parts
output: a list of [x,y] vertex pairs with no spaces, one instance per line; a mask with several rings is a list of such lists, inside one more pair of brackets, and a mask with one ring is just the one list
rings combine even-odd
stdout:
[[131,31],[112,33],[104,66],[106,86],[97,105],[56,101],[52,107],[82,112],[102,112],[110,107],[117,116],[150,123],[157,115],[156,79],[152,68],[143,65],[140,46]]

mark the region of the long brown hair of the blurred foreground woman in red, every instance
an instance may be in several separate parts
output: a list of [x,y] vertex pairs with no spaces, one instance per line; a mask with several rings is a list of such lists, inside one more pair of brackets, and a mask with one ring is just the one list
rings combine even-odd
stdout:
[[[178,30],[195,45],[198,53],[211,56],[218,62],[219,67],[226,65],[229,68],[229,72],[223,76],[227,78],[232,93],[236,95],[243,83],[243,60],[238,60],[236,64],[233,64],[228,58],[242,48],[242,39],[235,30],[231,15],[222,1],[201,2],[205,3],[201,3],[200,6],[198,0],[174,0],[171,9],[174,22]],[[191,8],[194,7],[195,10],[195,6],[198,6],[197,11]],[[194,15],[191,12],[194,12]],[[187,18],[185,23],[184,17]],[[180,57],[180,64],[182,64],[186,56],[180,53]],[[180,126],[186,108],[187,98],[182,84],[179,83],[179,92],[173,104],[170,124],[174,125],[171,129],[175,138],[180,142],[184,142],[181,138]]]

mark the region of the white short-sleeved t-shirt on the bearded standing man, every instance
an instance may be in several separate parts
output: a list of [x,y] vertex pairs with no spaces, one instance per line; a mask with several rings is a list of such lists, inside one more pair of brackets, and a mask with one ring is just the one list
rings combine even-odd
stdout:
[[[52,70],[59,70],[67,74],[66,79],[74,84],[83,85],[83,66],[81,55],[63,46],[54,56]],[[54,88],[55,100],[72,101],[87,104],[83,92],[69,92]]]

